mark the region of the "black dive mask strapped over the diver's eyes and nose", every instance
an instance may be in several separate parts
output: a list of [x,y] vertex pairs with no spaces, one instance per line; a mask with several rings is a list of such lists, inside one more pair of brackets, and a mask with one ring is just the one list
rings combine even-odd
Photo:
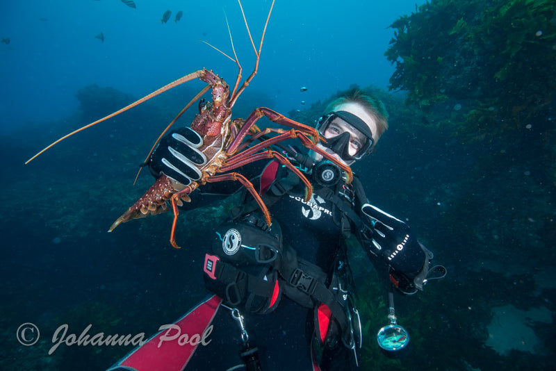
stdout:
[[[343,121],[347,122],[347,124],[353,126],[353,128],[356,129],[359,133],[361,133],[360,138],[364,139],[363,142],[361,142],[361,148],[359,148],[357,153],[353,155],[350,154],[351,135],[347,131],[344,131],[343,133],[332,138],[325,138],[325,131],[327,131],[329,125],[332,124],[332,122],[336,118],[342,119]],[[338,154],[345,161],[361,160],[361,158],[367,156],[368,154],[370,154],[371,151],[373,151],[373,133],[370,132],[368,125],[356,115],[345,110],[338,110],[320,117],[320,119],[318,119],[316,129],[318,130],[318,133],[326,140],[322,142],[322,145],[324,147],[332,149],[332,151]]]

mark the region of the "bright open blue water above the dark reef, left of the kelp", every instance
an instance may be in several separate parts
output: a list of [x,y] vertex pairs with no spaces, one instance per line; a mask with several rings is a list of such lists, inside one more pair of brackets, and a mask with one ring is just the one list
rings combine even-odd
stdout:
[[[354,82],[386,87],[393,72],[383,56],[393,35],[387,27],[415,10],[415,3],[277,1],[250,89],[287,112]],[[198,41],[232,55],[223,10],[244,76],[252,71],[254,52],[236,1],[136,4],[133,9],[119,0],[3,2],[0,37],[10,44],[0,44],[1,131],[74,113],[76,90],[90,83],[141,97],[202,67],[232,83],[235,63]],[[243,6],[258,47],[270,1],[247,0]],[[172,17],[161,24],[165,10]],[[176,23],[179,10],[183,17]],[[95,38],[101,32],[104,42]]]

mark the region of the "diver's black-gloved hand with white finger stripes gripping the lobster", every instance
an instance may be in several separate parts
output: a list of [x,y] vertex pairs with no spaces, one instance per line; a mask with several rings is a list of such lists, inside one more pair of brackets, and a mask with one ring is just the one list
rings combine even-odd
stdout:
[[172,131],[158,144],[149,158],[149,170],[158,178],[161,174],[185,186],[201,179],[199,167],[206,156],[199,151],[203,138],[190,128]]

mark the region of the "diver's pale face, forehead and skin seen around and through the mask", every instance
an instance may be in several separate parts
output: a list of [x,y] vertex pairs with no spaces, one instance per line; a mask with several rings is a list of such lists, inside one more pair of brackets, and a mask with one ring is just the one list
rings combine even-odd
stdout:
[[[377,142],[378,140],[378,137],[376,136],[377,122],[375,118],[371,116],[369,113],[367,113],[367,111],[361,105],[353,102],[348,102],[336,106],[334,110],[335,111],[345,110],[362,119],[363,122],[365,122],[369,127],[370,132],[373,133],[374,142],[375,143]],[[332,123],[329,124],[329,126],[327,127],[324,136],[325,138],[334,138],[335,136],[341,135],[345,132],[350,133],[348,152],[351,156],[354,156],[354,154],[357,154],[357,151],[361,149],[361,145],[367,140],[365,138],[365,135],[363,135],[361,131],[355,129],[354,126],[348,124],[340,117],[336,117],[334,121],[332,121]],[[336,152],[332,151],[332,149],[323,146],[320,142],[318,143],[317,147],[331,154],[332,156],[334,156],[334,158],[336,158],[336,160],[340,161],[345,165],[351,165],[352,163],[354,163],[354,160],[344,160],[343,158],[340,157],[340,155],[336,154]],[[322,156],[320,156],[320,154],[317,154],[314,151],[311,151],[310,155],[314,160],[318,160],[318,161],[322,160]]]

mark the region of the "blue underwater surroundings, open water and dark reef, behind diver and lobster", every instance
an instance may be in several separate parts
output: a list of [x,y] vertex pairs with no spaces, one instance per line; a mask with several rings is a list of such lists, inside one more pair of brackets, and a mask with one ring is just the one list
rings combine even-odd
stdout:
[[[133,347],[66,347],[81,333],[155,333],[199,302],[199,257],[222,206],[108,226],[152,184],[133,179],[203,84],[190,81],[49,143],[196,69],[234,83],[254,52],[236,1],[24,1],[0,5],[0,369],[104,370]],[[254,42],[271,1],[243,1]],[[172,14],[161,22],[166,10]],[[182,10],[181,19],[176,15]],[[234,107],[313,124],[355,85],[390,129],[354,171],[370,201],[407,220],[448,276],[396,295],[412,353],[379,352],[386,290],[354,247],[362,370],[555,369],[556,5],[507,1],[277,1],[259,73]],[[302,88],[306,90],[302,91]],[[188,125],[196,108],[177,125]],[[264,123],[263,123],[264,124]],[[26,347],[19,325],[40,339]]]

